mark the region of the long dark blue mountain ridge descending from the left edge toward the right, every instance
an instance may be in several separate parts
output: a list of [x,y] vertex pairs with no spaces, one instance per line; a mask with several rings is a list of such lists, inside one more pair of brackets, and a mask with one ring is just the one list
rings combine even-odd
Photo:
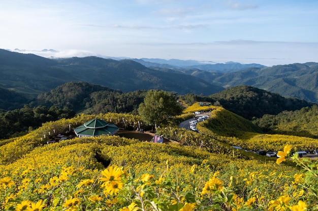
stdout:
[[37,96],[70,81],[84,81],[114,90],[161,89],[179,94],[210,95],[224,88],[184,73],[165,73],[132,60],[99,57],[46,59],[0,49],[0,87]]

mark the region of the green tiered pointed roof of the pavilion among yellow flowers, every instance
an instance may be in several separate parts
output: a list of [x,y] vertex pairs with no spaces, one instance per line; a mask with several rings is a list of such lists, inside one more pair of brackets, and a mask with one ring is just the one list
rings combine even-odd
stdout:
[[102,119],[94,118],[74,129],[77,136],[95,137],[101,135],[114,135],[119,128]]

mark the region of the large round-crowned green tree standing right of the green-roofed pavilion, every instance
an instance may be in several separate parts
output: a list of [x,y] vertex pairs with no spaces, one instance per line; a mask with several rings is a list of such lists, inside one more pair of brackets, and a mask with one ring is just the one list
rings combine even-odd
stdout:
[[165,124],[171,116],[181,114],[182,107],[172,93],[158,90],[147,92],[144,102],[139,105],[141,119],[151,125]]

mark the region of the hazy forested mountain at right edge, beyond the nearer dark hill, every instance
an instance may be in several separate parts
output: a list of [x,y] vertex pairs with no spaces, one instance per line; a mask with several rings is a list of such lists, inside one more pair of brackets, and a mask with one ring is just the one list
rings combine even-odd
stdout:
[[283,97],[318,102],[318,63],[249,68],[210,78],[223,87],[247,85],[279,93]]

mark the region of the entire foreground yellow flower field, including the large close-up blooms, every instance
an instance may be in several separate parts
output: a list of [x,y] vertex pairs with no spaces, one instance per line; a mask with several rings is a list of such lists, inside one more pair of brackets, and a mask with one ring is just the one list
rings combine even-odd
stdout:
[[[98,159],[103,163],[108,159],[110,165],[105,168]],[[272,161],[234,160],[194,147],[115,136],[77,138],[37,147],[14,163],[0,165],[0,206],[4,210],[314,210],[317,163],[295,161],[302,170]]]

